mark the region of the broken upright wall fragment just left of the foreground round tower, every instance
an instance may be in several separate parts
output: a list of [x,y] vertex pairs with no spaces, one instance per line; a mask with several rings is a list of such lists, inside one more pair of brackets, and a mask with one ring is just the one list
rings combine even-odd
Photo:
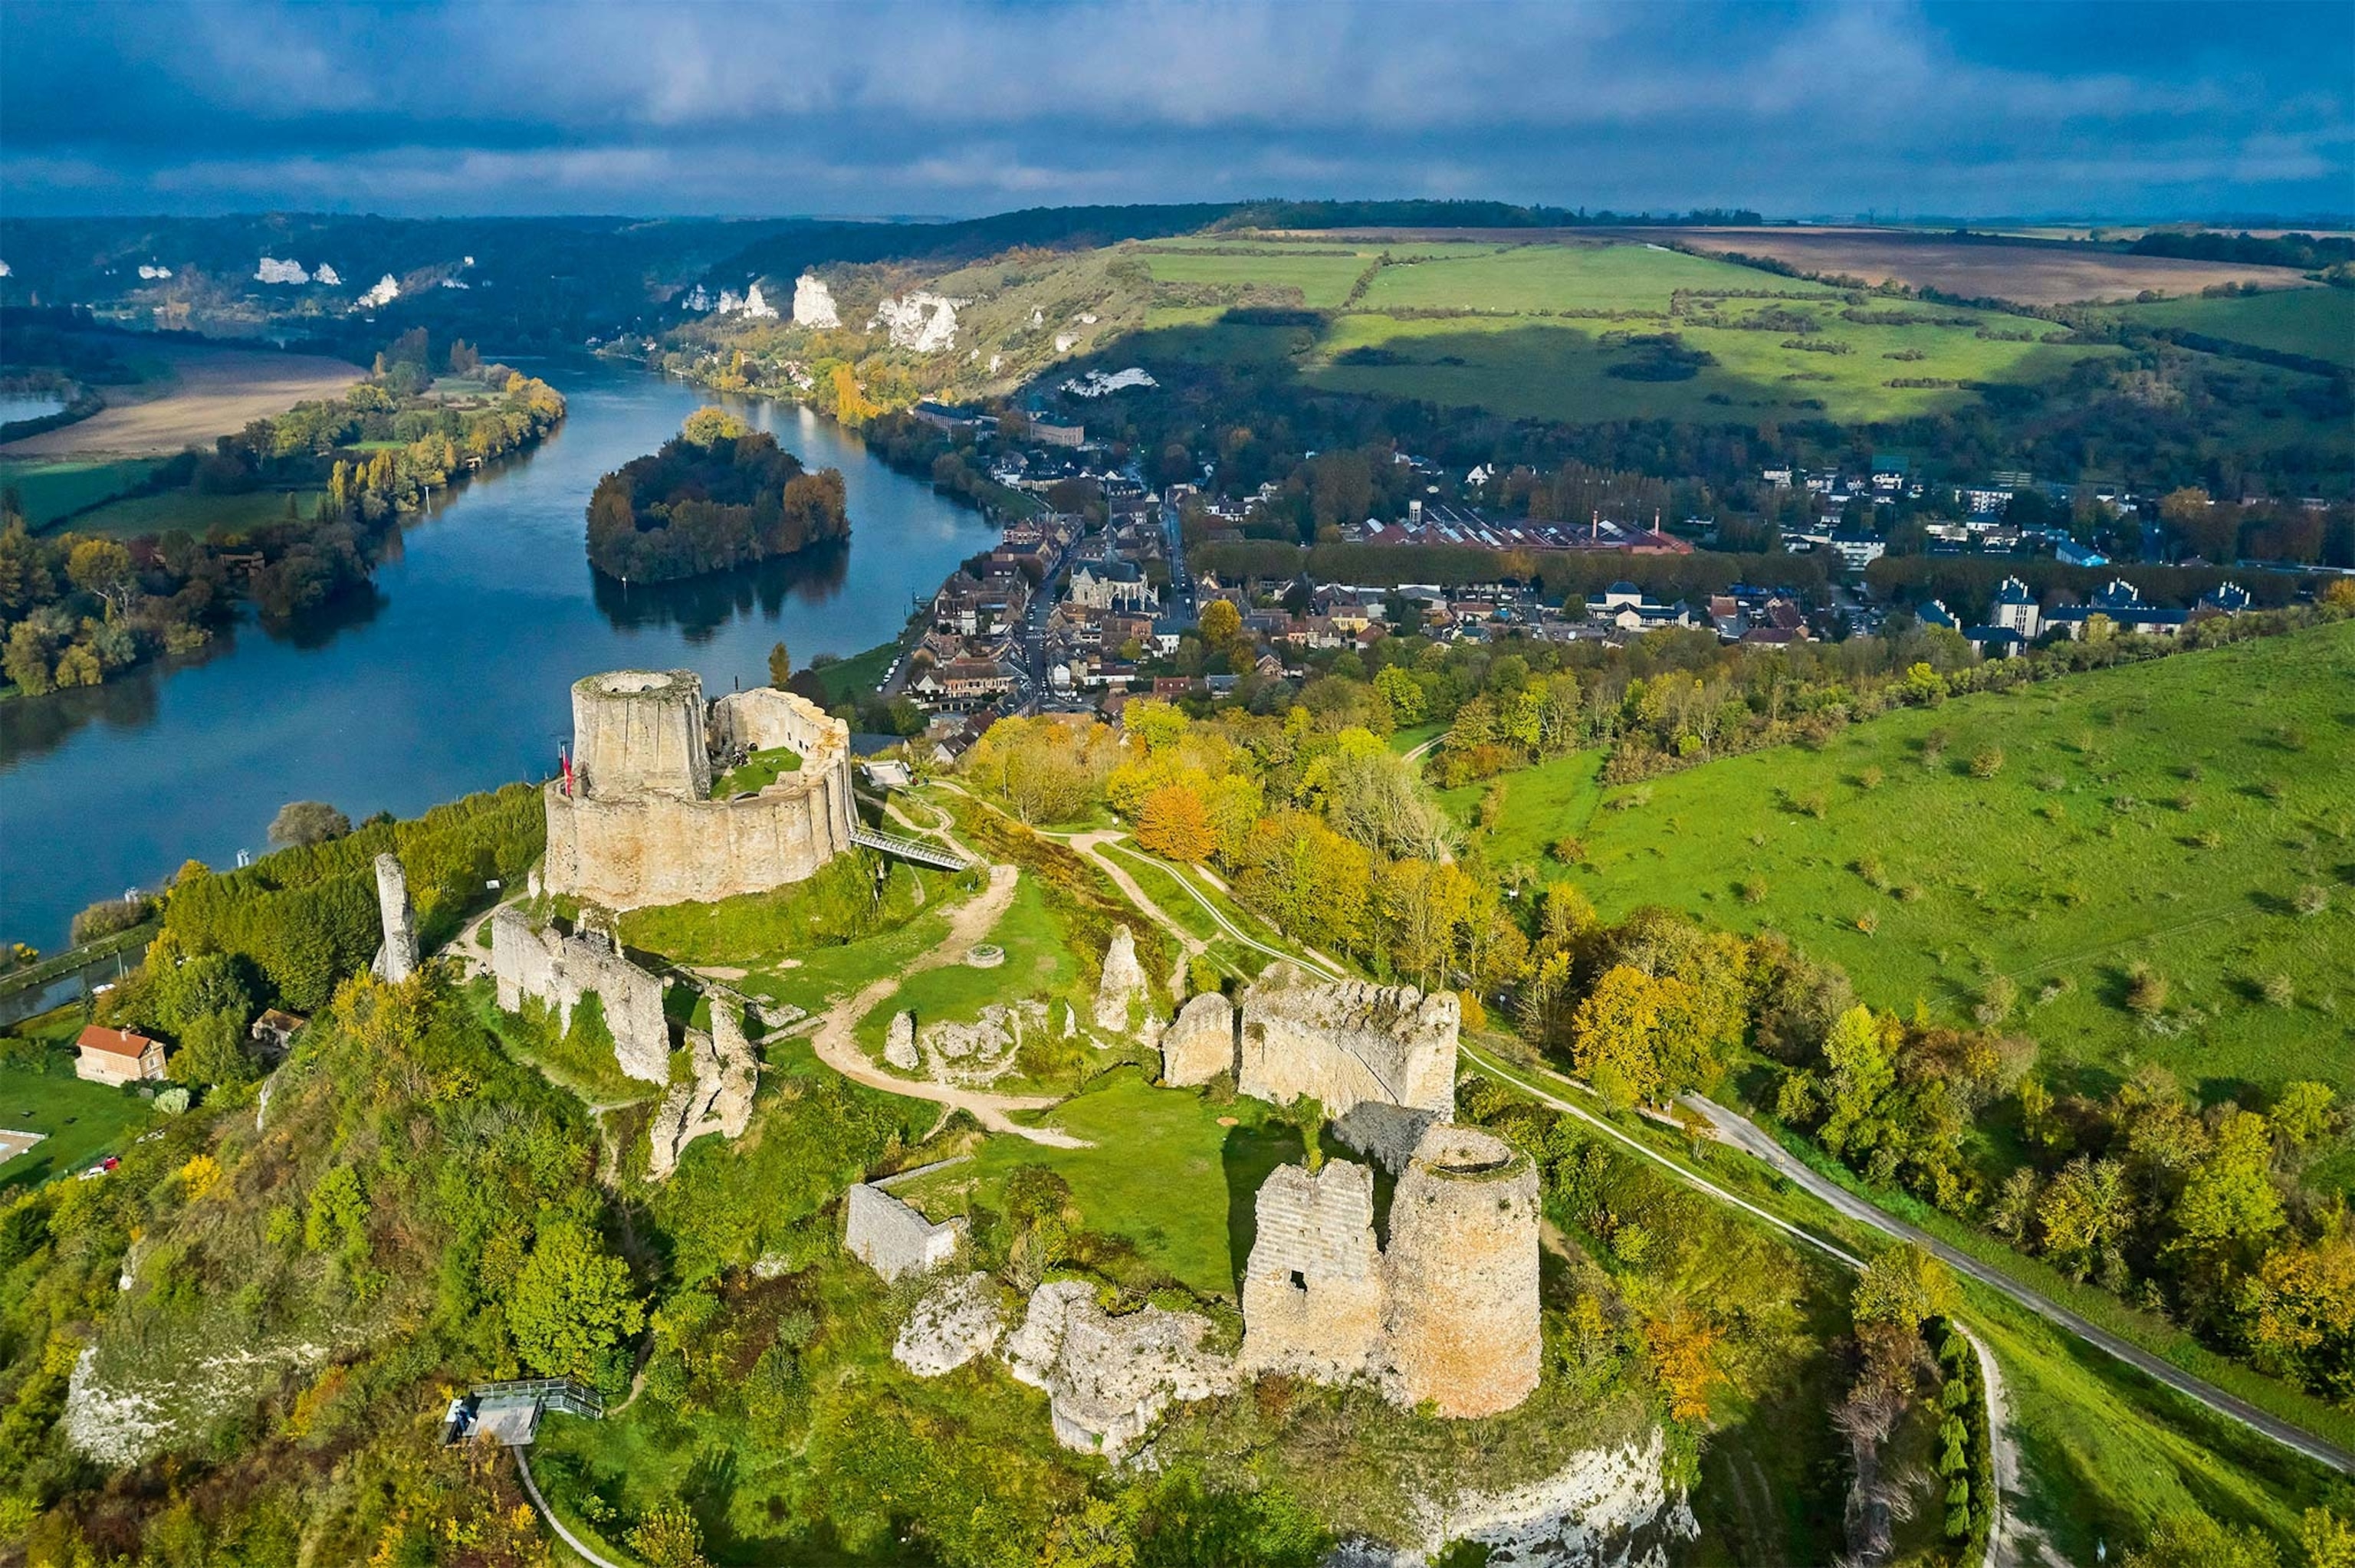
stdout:
[[1382,1351],[1382,1257],[1373,1245],[1373,1172],[1326,1161],[1279,1165],[1260,1187],[1243,1274],[1246,1373],[1347,1382]]

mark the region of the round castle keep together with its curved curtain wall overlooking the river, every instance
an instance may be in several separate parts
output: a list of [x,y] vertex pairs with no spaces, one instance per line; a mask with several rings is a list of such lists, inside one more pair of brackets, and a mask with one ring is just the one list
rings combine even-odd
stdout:
[[[711,798],[714,756],[787,746],[801,768]],[[608,909],[798,883],[850,848],[850,727],[794,692],[704,704],[695,671],[572,685],[572,789],[551,782],[546,885]]]

